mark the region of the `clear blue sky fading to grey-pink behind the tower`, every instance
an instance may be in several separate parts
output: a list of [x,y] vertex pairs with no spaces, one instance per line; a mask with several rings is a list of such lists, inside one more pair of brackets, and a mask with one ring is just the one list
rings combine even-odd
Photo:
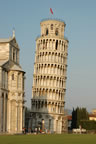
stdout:
[[[49,9],[53,9],[51,16]],[[0,38],[15,28],[20,63],[26,71],[26,105],[30,107],[35,39],[43,18],[65,21],[69,39],[66,108],[96,108],[96,1],[95,0],[0,0]]]

